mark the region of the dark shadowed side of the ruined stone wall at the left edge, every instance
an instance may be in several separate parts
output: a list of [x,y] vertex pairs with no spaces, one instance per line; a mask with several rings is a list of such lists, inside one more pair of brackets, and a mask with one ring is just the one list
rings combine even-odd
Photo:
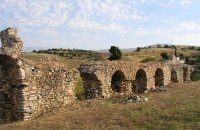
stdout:
[[23,85],[18,59],[0,54],[0,123],[24,118]]

